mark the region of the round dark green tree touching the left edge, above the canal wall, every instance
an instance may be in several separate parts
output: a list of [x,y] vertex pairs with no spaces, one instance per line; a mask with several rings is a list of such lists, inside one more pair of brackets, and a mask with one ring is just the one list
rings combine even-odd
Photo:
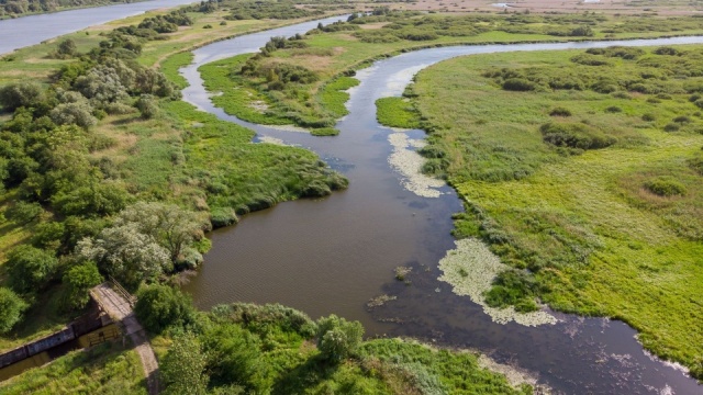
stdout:
[[19,246],[8,255],[5,263],[10,285],[20,293],[40,291],[52,280],[58,260],[53,252]]

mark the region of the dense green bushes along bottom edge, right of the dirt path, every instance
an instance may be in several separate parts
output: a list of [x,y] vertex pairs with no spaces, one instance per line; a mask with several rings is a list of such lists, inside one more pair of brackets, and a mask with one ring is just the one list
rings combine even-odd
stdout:
[[233,304],[170,326],[161,343],[166,393],[529,394],[479,368],[469,352],[400,339],[362,341],[336,316],[316,323],[280,305]]

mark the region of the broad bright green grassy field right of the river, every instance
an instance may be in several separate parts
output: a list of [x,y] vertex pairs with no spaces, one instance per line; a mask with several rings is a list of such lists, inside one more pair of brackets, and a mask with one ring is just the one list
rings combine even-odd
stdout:
[[[414,105],[431,131],[425,149],[440,153],[431,168],[467,205],[457,235],[481,237],[515,268],[493,296],[623,319],[647,349],[701,377],[702,81],[681,67],[703,52],[652,50],[447,60],[416,77]],[[515,79],[532,90],[506,90]],[[610,91],[603,81],[612,92],[593,90]],[[545,124],[607,147],[573,149]]]

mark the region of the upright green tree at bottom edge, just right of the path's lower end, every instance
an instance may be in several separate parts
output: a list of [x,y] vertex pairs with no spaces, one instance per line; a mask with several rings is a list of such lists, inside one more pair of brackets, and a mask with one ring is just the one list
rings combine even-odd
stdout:
[[159,362],[165,394],[204,395],[208,392],[205,374],[208,358],[198,339],[190,332],[178,336]]

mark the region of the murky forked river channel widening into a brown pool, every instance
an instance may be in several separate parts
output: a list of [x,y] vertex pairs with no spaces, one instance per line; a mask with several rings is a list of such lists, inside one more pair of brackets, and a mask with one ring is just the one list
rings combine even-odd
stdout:
[[[330,23],[336,19],[323,20]],[[304,33],[319,21],[220,42],[194,52],[181,70],[190,87],[185,99],[223,120],[310,148],[349,178],[347,191],[322,200],[287,202],[253,213],[212,235],[213,249],[186,286],[208,308],[233,301],[282,303],[312,317],[337,314],[359,319],[368,336],[412,336],[438,345],[481,350],[510,362],[566,394],[701,394],[703,386],[676,366],[648,356],[636,332],[621,321],[555,314],[554,326],[499,325],[468,297],[437,280],[437,262],[454,248],[450,215],[461,210],[450,188],[422,198],[402,187],[391,169],[389,135],[376,122],[375,101],[400,95],[412,76],[455,56],[514,50],[556,50],[611,45],[673,45],[703,42],[677,37],[607,43],[460,46],[419,50],[376,63],[357,74],[350,114],[336,137],[313,137],[253,125],[214,108],[197,68],[261,47],[271,36]],[[422,131],[409,132],[422,138]],[[411,284],[393,269],[412,267]],[[373,296],[398,296],[368,309]]]

